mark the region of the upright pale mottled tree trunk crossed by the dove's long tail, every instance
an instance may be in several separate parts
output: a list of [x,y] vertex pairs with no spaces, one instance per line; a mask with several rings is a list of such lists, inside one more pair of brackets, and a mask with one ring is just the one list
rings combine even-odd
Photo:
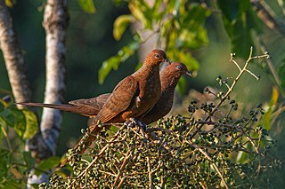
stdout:
[[[61,104],[65,91],[66,29],[69,14],[67,0],[48,0],[45,5],[44,23],[46,43],[46,82],[45,103]],[[29,141],[29,149],[34,149],[38,161],[53,156],[61,130],[61,112],[44,108],[40,131]],[[45,144],[45,145],[41,145]],[[28,184],[46,182],[45,175],[37,177],[30,174]]]

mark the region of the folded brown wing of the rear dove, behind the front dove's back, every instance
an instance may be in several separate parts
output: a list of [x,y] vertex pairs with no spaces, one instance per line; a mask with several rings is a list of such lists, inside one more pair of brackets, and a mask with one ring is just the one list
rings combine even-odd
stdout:
[[106,100],[110,97],[110,94],[111,93],[106,93],[94,98],[76,99],[69,101],[69,104],[73,106],[84,106],[92,108],[99,112],[102,109],[102,106],[104,106]]

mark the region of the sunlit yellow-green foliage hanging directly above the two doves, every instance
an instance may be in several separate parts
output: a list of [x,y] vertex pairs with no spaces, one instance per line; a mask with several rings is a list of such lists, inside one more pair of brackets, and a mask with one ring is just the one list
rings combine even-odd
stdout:
[[[134,23],[142,24],[141,30],[134,33],[134,42],[127,44],[118,54],[103,62],[99,71],[100,83],[111,69],[117,69],[121,62],[126,61],[138,50],[140,44],[157,35],[154,48],[167,51],[168,59],[183,62],[190,70],[197,70],[199,64],[191,56],[190,50],[196,50],[208,43],[207,30],[204,24],[210,11],[206,4],[190,3],[188,1],[155,1],[153,5],[144,0],[128,1],[131,14],[121,15],[115,20],[113,34],[116,40],[121,39],[126,28]],[[151,31],[151,35],[142,38],[144,30]],[[137,46],[134,48],[134,43]],[[126,51],[131,49],[132,53]],[[126,59],[121,59],[124,57]],[[183,83],[180,83],[183,86]],[[182,91],[182,90],[180,90]]]

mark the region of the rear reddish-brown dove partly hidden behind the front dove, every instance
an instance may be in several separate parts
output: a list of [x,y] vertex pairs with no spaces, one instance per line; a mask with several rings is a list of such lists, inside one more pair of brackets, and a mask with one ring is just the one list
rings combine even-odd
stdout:
[[[173,106],[175,87],[182,75],[190,75],[187,67],[181,62],[172,62],[160,72],[161,94],[159,101],[151,108],[151,111],[142,117],[142,122],[150,124],[158,121],[168,114]],[[104,93],[94,98],[81,98],[69,101],[69,105],[54,105],[44,103],[17,103],[23,106],[40,106],[59,109],[87,117],[95,117],[111,93]]]

